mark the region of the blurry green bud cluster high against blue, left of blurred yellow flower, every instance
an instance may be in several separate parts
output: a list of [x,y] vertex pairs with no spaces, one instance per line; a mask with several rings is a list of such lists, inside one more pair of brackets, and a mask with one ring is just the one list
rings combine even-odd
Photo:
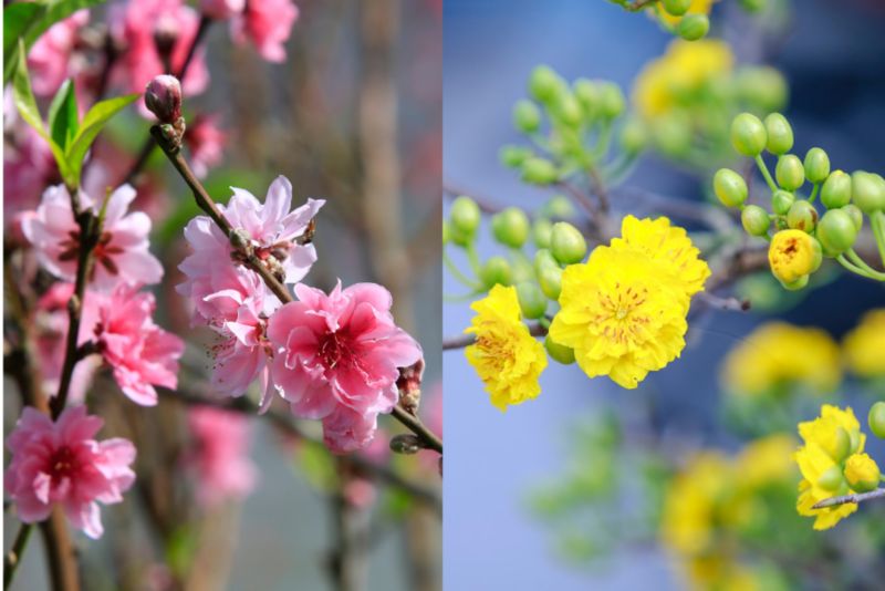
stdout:
[[[532,185],[555,185],[593,172],[600,182],[616,184],[646,145],[645,126],[625,117],[621,87],[606,81],[577,79],[569,84],[550,66],[537,66],[529,77],[529,97],[513,106],[513,126],[533,144],[504,146],[501,162]],[[617,134],[621,154],[610,157]]]

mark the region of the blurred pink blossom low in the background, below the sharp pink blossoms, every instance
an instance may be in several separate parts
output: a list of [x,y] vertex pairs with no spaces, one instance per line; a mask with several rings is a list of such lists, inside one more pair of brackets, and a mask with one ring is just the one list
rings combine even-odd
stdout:
[[201,502],[243,498],[256,486],[258,470],[249,459],[249,419],[236,412],[195,406],[187,416],[195,449],[186,463],[197,473]]

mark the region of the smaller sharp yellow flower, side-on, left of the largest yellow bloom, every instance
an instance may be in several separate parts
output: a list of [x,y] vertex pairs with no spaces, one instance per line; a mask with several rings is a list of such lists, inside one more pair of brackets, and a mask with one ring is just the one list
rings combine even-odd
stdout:
[[491,403],[507,411],[510,404],[538,396],[538,377],[546,367],[546,354],[520,321],[516,288],[494,286],[487,298],[470,308],[477,315],[465,332],[475,333],[477,340],[465,354],[485,382]]

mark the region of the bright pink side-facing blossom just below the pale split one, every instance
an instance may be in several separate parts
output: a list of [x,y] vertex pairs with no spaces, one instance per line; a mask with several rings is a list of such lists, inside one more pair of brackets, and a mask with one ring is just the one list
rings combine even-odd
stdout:
[[136,289],[121,284],[110,294],[91,294],[97,300],[93,333],[123,393],[136,404],[154,406],[154,386],[175,390],[178,385],[178,359],[185,343],[154,323],[154,296]]

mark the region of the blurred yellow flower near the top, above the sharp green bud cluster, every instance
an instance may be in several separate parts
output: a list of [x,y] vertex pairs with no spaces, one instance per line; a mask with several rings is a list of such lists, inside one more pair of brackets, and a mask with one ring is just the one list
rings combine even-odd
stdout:
[[676,40],[636,76],[633,102],[645,118],[656,118],[691,103],[693,95],[731,73],[735,56],[727,43]]

